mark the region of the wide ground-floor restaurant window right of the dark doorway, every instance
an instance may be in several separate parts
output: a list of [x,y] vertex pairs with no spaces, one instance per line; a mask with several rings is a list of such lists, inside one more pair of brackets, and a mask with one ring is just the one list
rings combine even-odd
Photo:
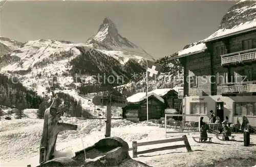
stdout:
[[234,116],[256,116],[256,101],[234,102]]

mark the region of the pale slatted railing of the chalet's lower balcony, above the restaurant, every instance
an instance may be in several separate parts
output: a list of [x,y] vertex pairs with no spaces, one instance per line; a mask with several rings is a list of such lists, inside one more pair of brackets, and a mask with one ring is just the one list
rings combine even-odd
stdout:
[[221,93],[254,93],[256,92],[256,84],[222,86]]

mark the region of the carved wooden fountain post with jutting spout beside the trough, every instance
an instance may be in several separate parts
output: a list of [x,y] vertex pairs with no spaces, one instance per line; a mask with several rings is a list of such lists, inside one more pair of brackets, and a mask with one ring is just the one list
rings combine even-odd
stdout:
[[44,115],[44,128],[42,130],[42,138],[40,143],[40,158],[39,163],[44,163],[48,160],[53,159],[53,153],[55,151],[55,144],[57,135],[60,131],[64,130],[77,130],[77,125],[59,123],[61,113],[57,112],[56,99],[49,108],[45,110]]

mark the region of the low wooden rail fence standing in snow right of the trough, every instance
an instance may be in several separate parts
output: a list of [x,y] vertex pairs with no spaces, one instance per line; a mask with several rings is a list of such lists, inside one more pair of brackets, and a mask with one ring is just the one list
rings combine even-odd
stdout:
[[[145,151],[137,151],[138,146],[156,145],[156,144],[172,143],[172,142],[180,142],[180,141],[183,141],[184,145],[167,146],[167,147],[155,148],[155,149],[150,149]],[[183,147],[187,149],[187,152],[192,151],[186,135],[183,135],[180,138],[170,138],[170,139],[161,140],[161,141],[151,141],[151,142],[142,142],[142,143],[137,143],[137,141],[134,141],[133,142],[133,158],[138,157],[138,154],[146,154],[146,153],[152,153],[152,152],[163,151],[163,150],[173,150],[173,149],[178,149]]]

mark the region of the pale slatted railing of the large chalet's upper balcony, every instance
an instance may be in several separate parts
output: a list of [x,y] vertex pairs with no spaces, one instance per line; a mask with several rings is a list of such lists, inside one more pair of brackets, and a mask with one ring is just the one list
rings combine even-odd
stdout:
[[[250,50],[253,50],[253,51],[250,51]],[[250,61],[250,60],[256,61],[255,49],[250,49],[250,50],[236,52],[236,55],[232,55],[235,53],[222,55],[221,65],[226,65],[230,63],[243,63],[243,61]],[[247,52],[247,53],[242,53],[242,52]]]

